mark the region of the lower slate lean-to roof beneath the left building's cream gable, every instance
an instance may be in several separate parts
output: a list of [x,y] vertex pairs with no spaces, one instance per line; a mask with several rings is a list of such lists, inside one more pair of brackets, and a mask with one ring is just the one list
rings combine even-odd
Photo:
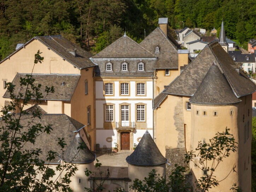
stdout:
[[[12,83],[16,86],[15,94],[17,95],[20,89],[20,78],[24,78],[26,74],[16,74]],[[79,81],[80,75],[58,75],[58,74],[34,74],[35,79],[34,84],[41,84],[42,100],[65,100],[70,101],[72,95],[75,92],[77,83]],[[62,85],[63,84],[63,85]],[[46,96],[44,92],[45,87],[54,87],[54,93],[49,93]],[[21,93],[25,93],[25,87],[23,86]],[[10,98],[10,93],[5,92],[4,98]]]

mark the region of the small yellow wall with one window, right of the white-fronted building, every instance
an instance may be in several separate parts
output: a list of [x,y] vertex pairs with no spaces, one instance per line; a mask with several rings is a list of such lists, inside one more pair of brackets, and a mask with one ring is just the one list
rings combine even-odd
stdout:
[[165,69],[157,69],[157,87],[156,87],[156,95],[161,93],[164,89],[165,85],[169,85],[179,74],[178,69],[170,69],[170,75],[165,75]]

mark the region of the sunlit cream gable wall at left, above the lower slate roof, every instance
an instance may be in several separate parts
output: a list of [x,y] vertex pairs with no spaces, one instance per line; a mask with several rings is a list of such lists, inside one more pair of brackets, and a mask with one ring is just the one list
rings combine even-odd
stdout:
[[2,98],[6,92],[3,81],[12,82],[17,73],[31,73],[37,50],[42,52],[41,56],[44,57],[44,59],[41,64],[38,63],[35,65],[34,74],[80,74],[79,69],[74,68],[72,64],[63,60],[62,57],[52,50],[48,50],[39,40],[33,40],[25,46],[25,48],[13,54],[10,59],[0,64],[0,108],[4,106],[5,100],[8,100]]

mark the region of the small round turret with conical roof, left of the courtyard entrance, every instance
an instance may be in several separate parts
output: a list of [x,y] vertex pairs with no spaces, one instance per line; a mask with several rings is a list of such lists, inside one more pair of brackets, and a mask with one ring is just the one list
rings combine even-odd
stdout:
[[72,176],[70,187],[77,192],[83,192],[85,187],[90,187],[88,177],[85,175],[86,168],[90,171],[94,170],[93,162],[96,158],[95,153],[91,152],[88,147],[85,149],[77,149],[84,142],[79,133],[76,134],[74,140],[64,151],[63,161],[65,163],[75,164],[78,168],[75,175]]

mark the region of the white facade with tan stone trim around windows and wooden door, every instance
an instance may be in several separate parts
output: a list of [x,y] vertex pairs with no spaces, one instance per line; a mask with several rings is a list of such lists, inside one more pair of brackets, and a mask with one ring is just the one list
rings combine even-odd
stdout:
[[[122,150],[121,134],[128,132],[130,137],[129,150],[133,150],[134,144],[138,144],[146,130],[153,135],[153,79],[140,78],[104,78],[95,77],[95,127],[97,129],[96,143],[100,148],[104,146]],[[129,83],[129,95],[120,94],[120,83]],[[113,83],[113,94],[105,95],[105,83]],[[145,94],[136,94],[137,83],[145,83]],[[113,106],[113,121],[106,121],[106,105]],[[128,121],[121,119],[121,106],[128,106]],[[145,106],[145,120],[137,121],[137,105]]]

